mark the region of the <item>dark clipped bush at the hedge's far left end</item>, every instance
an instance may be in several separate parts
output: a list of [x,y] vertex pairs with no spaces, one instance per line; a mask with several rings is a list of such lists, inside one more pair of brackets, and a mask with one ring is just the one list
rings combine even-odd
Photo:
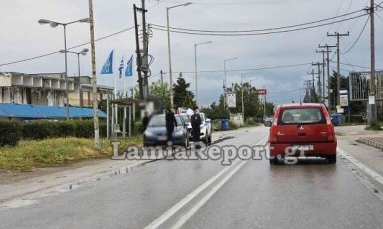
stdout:
[[20,123],[0,120],[0,146],[14,146],[21,138]]

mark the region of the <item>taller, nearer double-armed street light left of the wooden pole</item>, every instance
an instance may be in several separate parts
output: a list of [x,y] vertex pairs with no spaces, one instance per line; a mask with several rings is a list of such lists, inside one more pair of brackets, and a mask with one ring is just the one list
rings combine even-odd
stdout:
[[85,22],[88,23],[90,22],[90,18],[82,18],[76,21],[71,21],[68,23],[60,23],[56,21],[51,21],[47,19],[39,19],[38,23],[39,24],[49,24],[50,27],[55,28],[58,25],[62,25],[64,27],[64,53],[65,53],[65,97],[66,97],[66,119],[69,120],[69,91],[68,91],[68,63],[67,63],[67,49],[66,49],[66,26],[69,24],[73,24],[76,22]]

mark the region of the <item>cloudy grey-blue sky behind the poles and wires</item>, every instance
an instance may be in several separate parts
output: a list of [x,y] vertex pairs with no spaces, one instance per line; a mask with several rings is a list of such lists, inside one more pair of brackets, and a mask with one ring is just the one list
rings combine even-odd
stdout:
[[[140,0],[93,0],[96,38],[129,28],[133,25],[133,3]],[[166,7],[185,3],[183,0],[148,0],[147,22],[166,25]],[[369,0],[191,0],[193,4],[171,9],[171,26],[202,30],[252,30],[295,25],[324,18],[342,15],[362,9]],[[376,3],[380,3],[377,1]],[[361,12],[362,13],[362,12]],[[376,63],[382,68],[382,23],[383,12],[376,16]],[[51,28],[39,25],[40,18],[68,22],[88,16],[88,0],[1,0],[0,1],[0,65],[30,58],[63,49],[62,27]],[[358,13],[355,15],[359,15]],[[237,57],[227,62],[227,70],[254,69],[311,63],[322,60],[315,51],[318,44],[335,45],[334,37],[326,37],[326,32],[350,31],[349,37],[341,39],[341,49],[348,50],[362,31],[367,17],[361,17],[323,27],[258,36],[200,36],[171,34],[172,62],[174,72],[183,72],[192,84],[194,91],[194,44],[213,41],[198,46],[198,71],[223,70],[223,60]],[[341,56],[342,63],[370,66],[368,24],[354,48]],[[89,41],[89,26],[76,23],[67,27],[68,47]],[[149,52],[155,60],[151,66],[151,81],[159,80],[160,70],[168,72],[167,34],[153,30]],[[73,51],[80,51],[83,46]],[[135,50],[134,30],[96,43],[97,72],[109,52],[115,50],[115,72],[122,56],[130,57]],[[335,50],[334,50],[335,51]],[[331,55],[332,56],[332,55]],[[336,61],[336,58],[333,58]],[[77,75],[77,57],[69,55],[68,74]],[[81,58],[82,75],[91,73],[90,55]],[[332,64],[335,67],[336,64]],[[366,70],[342,65],[342,73]],[[241,73],[247,73],[245,81],[252,81],[256,87],[269,90],[269,100],[276,104],[299,101],[299,88],[309,79],[307,72],[311,65],[283,69],[258,71],[229,71],[227,81],[240,82]],[[63,54],[0,66],[0,71],[23,73],[63,72]],[[135,74],[136,75],[136,74]],[[177,76],[178,73],[174,73]],[[164,75],[169,80],[169,74]],[[112,75],[98,75],[99,84],[113,86]],[[127,80],[128,87],[134,79]],[[222,93],[223,73],[198,73],[198,104],[209,105]],[[122,89],[123,81],[119,82]],[[293,92],[290,92],[293,91]],[[285,93],[288,92],[288,93]]]

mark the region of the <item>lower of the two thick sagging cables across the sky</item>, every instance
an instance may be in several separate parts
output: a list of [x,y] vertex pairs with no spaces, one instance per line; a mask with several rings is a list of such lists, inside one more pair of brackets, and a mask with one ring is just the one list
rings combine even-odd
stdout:
[[[352,20],[352,19],[355,19],[355,18],[363,17],[363,16],[366,16],[368,14],[369,13],[365,13],[365,14],[362,14],[362,15],[359,15],[359,16],[354,16],[354,17],[350,17],[350,18],[346,18],[346,19],[342,19],[342,20],[338,20],[338,21],[334,21],[334,22],[328,22],[328,23],[324,23],[324,24],[313,25],[313,26],[308,26],[308,27],[303,27],[303,28],[296,28],[296,29],[289,29],[289,30],[282,30],[282,31],[263,32],[263,33],[227,34],[227,33],[187,32],[187,31],[176,31],[176,30],[170,30],[170,32],[183,33],[183,34],[191,34],[191,35],[207,35],[207,36],[254,36],[254,35],[267,35],[267,34],[285,33],[285,32],[299,31],[299,30],[306,30],[306,29],[310,29],[310,28],[317,28],[317,27],[321,27],[321,26],[325,26],[325,25],[329,25],[329,24],[335,24],[335,23],[339,23],[339,22],[342,22],[342,21],[347,21],[347,20]],[[160,31],[167,31],[167,29],[162,29],[162,28],[155,28],[155,27],[151,27],[151,28],[155,29],[155,30],[160,30]]]

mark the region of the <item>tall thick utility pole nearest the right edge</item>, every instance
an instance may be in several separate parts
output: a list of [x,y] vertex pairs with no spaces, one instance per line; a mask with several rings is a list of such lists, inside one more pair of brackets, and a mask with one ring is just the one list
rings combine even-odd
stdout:
[[[370,4],[370,32],[371,32],[371,76],[370,76],[370,97],[374,98],[375,100],[375,3],[374,0],[371,0]],[[370,100],[370,99],[369,99]],[[368,114],[368,121],[371,123],[372,121],[377,119],[377,107],[376,103],[370,104],[370,108],[368,111],[370,113]]]

